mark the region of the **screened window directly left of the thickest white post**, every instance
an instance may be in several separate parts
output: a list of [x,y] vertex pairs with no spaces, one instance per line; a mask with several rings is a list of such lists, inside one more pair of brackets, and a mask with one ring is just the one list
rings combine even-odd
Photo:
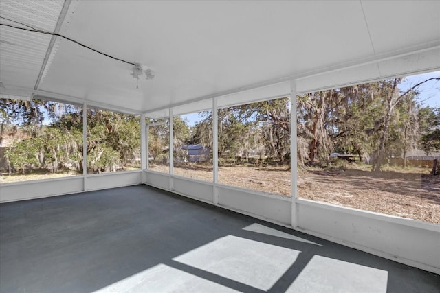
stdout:
[[218,110],[219,183],[291,196],[289,98]]

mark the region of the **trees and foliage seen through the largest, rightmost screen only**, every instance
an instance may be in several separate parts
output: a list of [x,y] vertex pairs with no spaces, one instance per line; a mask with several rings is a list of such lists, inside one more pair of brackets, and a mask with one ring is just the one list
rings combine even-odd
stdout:
[[358,154],[380,169],[386,157],[404,157],[421,148],[420,134],[432,131],[432,120],[437,118],[431,110],[417,106],[417,86],[424,82],[401,92],[401,81],[382,80],[298,96],[298,161],[328,165],[329,154],[340,152]]

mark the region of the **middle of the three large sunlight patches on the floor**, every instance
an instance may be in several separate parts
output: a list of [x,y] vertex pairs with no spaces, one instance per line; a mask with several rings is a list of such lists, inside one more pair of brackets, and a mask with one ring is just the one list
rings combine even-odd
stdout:
[[228,235],[173,260],[254,288],[269,290],[300,251]]

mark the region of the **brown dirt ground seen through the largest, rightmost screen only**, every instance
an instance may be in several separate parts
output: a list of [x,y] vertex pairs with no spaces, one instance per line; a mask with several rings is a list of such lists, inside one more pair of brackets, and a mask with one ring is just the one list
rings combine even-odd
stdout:
[[440,178],[423,173],[307,170],[298,178],[298,195],[440,224]]

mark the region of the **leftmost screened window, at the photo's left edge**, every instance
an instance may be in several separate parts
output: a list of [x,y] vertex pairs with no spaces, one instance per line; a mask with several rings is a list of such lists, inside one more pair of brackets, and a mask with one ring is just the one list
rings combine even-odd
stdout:
[[83,109],[0,99],[1,183],[83,174]]

